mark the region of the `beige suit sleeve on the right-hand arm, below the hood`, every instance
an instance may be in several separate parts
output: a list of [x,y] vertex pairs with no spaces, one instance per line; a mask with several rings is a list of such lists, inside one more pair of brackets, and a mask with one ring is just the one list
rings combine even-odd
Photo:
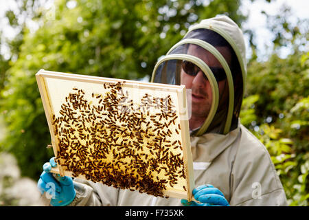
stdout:
[[266,147],[251,133],[244,135],[231,170],[231,206],[287,206]]

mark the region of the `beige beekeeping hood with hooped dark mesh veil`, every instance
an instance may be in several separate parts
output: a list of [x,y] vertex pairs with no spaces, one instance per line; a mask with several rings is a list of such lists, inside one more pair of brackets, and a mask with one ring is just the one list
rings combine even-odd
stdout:
[[[222,47],[229,49],[229,58],[220,50]],[[197,52],[192,53],[192,48]],[[200,54],[205,53],[212,54],[216,63],[220,63],[221,72],[201,58]],[[226,134],[238,126],[247,75],[245,54],[242,31],[235,22],[227,16],[205,19],[192,25],[183,39],[157,62],[151,81],[181,85],[182,72],[195,76],[201,70],[209,80],[212,101],[205,122],[194,131],[194,135]],[[220,87],[219,82],[223,82]]]

